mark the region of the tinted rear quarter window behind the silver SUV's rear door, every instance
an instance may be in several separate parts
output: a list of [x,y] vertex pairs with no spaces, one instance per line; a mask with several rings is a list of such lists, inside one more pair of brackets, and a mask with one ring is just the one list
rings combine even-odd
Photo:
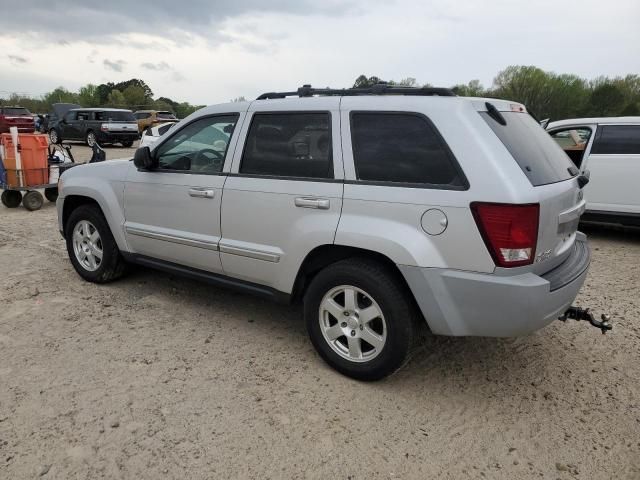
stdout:
[[453,155],[424,117],[353,113],[351,142],[358,180],[464,187]]

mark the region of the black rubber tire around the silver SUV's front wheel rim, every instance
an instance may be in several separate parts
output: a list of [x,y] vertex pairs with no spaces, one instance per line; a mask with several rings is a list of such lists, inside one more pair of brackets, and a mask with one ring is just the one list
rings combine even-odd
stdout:
[[[102,243],[102,261],[96,270],[87,270],[79,262],[73,247],[73,232],[79,222],[86,220],[90,222],[100,234]],[[67,242],[67,253],[78,275],[93,283],[107,283],[121,277],[126,270],[126,262],[120,254],[109,225],[100,208],[96,205],[81,205],[76,208],[65,225],[65,239]]]

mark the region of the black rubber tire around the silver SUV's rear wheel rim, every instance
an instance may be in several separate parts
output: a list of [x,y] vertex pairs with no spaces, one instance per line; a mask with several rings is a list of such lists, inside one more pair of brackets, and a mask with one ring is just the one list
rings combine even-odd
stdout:
[[[380,353],[369,361],[355,362],[344,358],[334,351],[322,333],[319,314],[322,299],[342,285],[366,292],[384,316],[386,341]],[[416,313],[411,298],[401,285],[402,279],[396,272],[369,259],[343,260],[320,271],[304,296],[307,332],[320,356],[340,373],[357,380],[379,380],[402,367],[413,346]],[[351,334],[353,336],[353,332]]]

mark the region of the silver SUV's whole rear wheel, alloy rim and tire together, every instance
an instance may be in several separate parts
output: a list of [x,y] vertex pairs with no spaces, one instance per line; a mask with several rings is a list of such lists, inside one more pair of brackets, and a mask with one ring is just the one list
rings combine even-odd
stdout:
[[313,346],[340,373],[379,380],[398,370],[414,338],[415,309],[397,272],[363,258],[321,270],[304,297]]

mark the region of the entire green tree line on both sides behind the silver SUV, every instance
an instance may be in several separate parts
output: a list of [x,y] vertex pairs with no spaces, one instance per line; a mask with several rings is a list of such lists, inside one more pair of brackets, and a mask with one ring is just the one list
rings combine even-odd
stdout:
[[[383,80],[376,76],[360,75],[353,87],[367,87],[381,81]],[[431,86],[428,83],[419,84],[412,77],[388,80],[387,83],[411,87]],[[534,66],[514,65],[500,71],[489,87],[484,87],[478,80],[471,80],[451,88],[461,96],[504,98],[523,103],[540,119],[640,115],[640,75],[637,74],[585,79],[573,74],[546,72]],[[244,97],[233,101],[241,100]],[[17,94],[7,99],[0,98],[0,105],[19,105],[34,113],[51,111],[53,103],[131,110],[169,110],[178,118],[184,118],[202,108],[202,105],[177,102],[167,97],[154,98],[151,88],[137,78],[119,83],[87,84],[77,92],[58,87],[40,98]]]

